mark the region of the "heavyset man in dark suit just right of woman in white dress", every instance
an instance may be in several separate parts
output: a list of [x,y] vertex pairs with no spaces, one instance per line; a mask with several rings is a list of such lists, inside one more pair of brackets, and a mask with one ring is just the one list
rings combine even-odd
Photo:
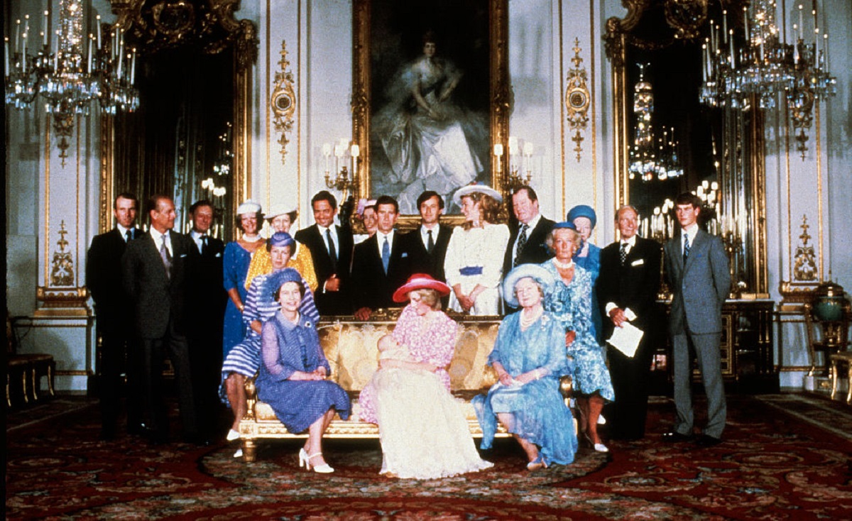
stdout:
[[[503,275],[521,264],[541,264],[553,255],[544,243],[556,223],[538,211],[538,195],[532,186],[520,186],[512,191],[512,213],[517,220],[509,234],[509,244],[503,260]],[[504,301],[506,312],[516,311]]]

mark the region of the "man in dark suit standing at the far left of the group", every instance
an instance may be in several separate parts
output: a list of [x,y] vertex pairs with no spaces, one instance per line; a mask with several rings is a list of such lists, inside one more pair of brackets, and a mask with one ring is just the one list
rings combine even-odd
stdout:
[[[95,301],[95,329],[101,338],[98,349],[98,395],[101,402],[101,439],[115,438],[123,394],[122,375],[128,387],[135,384],[128,364],[132,351],[133,309],[127,306],[127,295],[121,283],[121,256],[130,241],[141,235],[134,226],[136,197],[120,193],[112,206],[116,224],[109,232],[95,235],[86,256],[86,286]],[[128,397],[135,392],[128,392]],[[139,408],[128,406],[128,430],[140,427]]]

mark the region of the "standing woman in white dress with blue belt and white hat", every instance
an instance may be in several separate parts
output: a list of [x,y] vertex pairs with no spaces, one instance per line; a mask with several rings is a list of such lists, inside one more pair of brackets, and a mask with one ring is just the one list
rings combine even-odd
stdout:
[[470,315],[500,313],[500,279],[509,227],[495,224],[503,197],[490,186],[462,186],[453,195],[464,224],[452,231],[444,272],[452,288],[450,309]]

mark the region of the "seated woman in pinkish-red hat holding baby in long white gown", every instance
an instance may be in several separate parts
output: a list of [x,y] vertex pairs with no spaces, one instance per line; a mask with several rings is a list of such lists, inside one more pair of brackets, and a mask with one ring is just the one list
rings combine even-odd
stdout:
[[445,478],[492,467],[450,393],[446,367],[458,326],[440,311],[440,297],[449,293],[446,283],[423,273],[394,292],[394,301],[409,303],[393,334],[379,341],[379,369],[359,398],[361,420],[379,427],[383,475]]

